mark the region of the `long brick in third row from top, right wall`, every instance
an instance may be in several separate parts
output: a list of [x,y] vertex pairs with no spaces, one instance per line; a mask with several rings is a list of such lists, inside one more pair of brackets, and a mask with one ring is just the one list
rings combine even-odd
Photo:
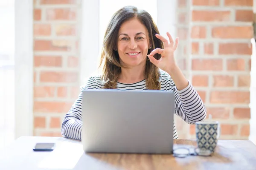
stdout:
[[253,37],[252,26],[221,26],[212,28],[213,38],[244,38]]

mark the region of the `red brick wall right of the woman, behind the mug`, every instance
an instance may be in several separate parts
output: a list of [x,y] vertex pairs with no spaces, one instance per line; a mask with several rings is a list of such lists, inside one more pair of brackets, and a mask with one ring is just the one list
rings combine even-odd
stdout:
[[[247,139],[253,0],[178,2],[178,36],[189,51],[179,53],[189,62],[186,76],[204,100],[208,116],[221,122],[221,138]],[[195,138],[195,126],[190,126],[189,138]]]

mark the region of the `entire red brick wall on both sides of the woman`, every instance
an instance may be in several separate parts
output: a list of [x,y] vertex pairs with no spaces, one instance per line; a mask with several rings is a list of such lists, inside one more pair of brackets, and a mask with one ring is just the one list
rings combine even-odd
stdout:
[[[247,139],[253,0],[177,2],[180,68],[221,122],[221,138]],[[35,136],[60,136],[79,94],[80,8],[76,0],[34,0]],[[194,126],[175,122],[180,138],[195,138]]]

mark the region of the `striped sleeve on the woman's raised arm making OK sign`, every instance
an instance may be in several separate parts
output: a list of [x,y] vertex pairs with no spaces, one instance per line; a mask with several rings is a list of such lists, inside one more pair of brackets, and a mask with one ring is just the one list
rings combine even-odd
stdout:
[[192,84],[189,82],[188,86],[180,91],[177,90],[174,82],[171,83],[171,86],[172,91],[175,92],[175,114],[192,125],[195,122],[204,121],[207,111]]

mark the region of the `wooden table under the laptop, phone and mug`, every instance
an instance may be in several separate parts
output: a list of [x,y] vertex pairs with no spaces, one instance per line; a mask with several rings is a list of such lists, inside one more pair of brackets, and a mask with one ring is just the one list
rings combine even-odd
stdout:
[[[56,142],[52,152],[34,152],[36,142]],[[175,140],[174,148],[196,146]],[[256,146],[250,141],[219,140],[210,157],[84,153],[80,141],[62,137],[20,137],[0,150],[0,170],[256,170]]]

